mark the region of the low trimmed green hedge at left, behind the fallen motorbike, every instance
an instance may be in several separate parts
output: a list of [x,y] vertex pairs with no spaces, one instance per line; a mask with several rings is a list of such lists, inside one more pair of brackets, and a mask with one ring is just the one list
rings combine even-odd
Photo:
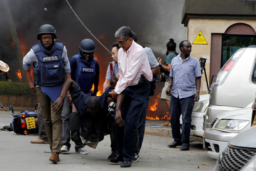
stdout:
[[28,83],[16,83],[8,81],[0,81],[0,94],[14,96],[36,96],[36,93],[29,88]]

